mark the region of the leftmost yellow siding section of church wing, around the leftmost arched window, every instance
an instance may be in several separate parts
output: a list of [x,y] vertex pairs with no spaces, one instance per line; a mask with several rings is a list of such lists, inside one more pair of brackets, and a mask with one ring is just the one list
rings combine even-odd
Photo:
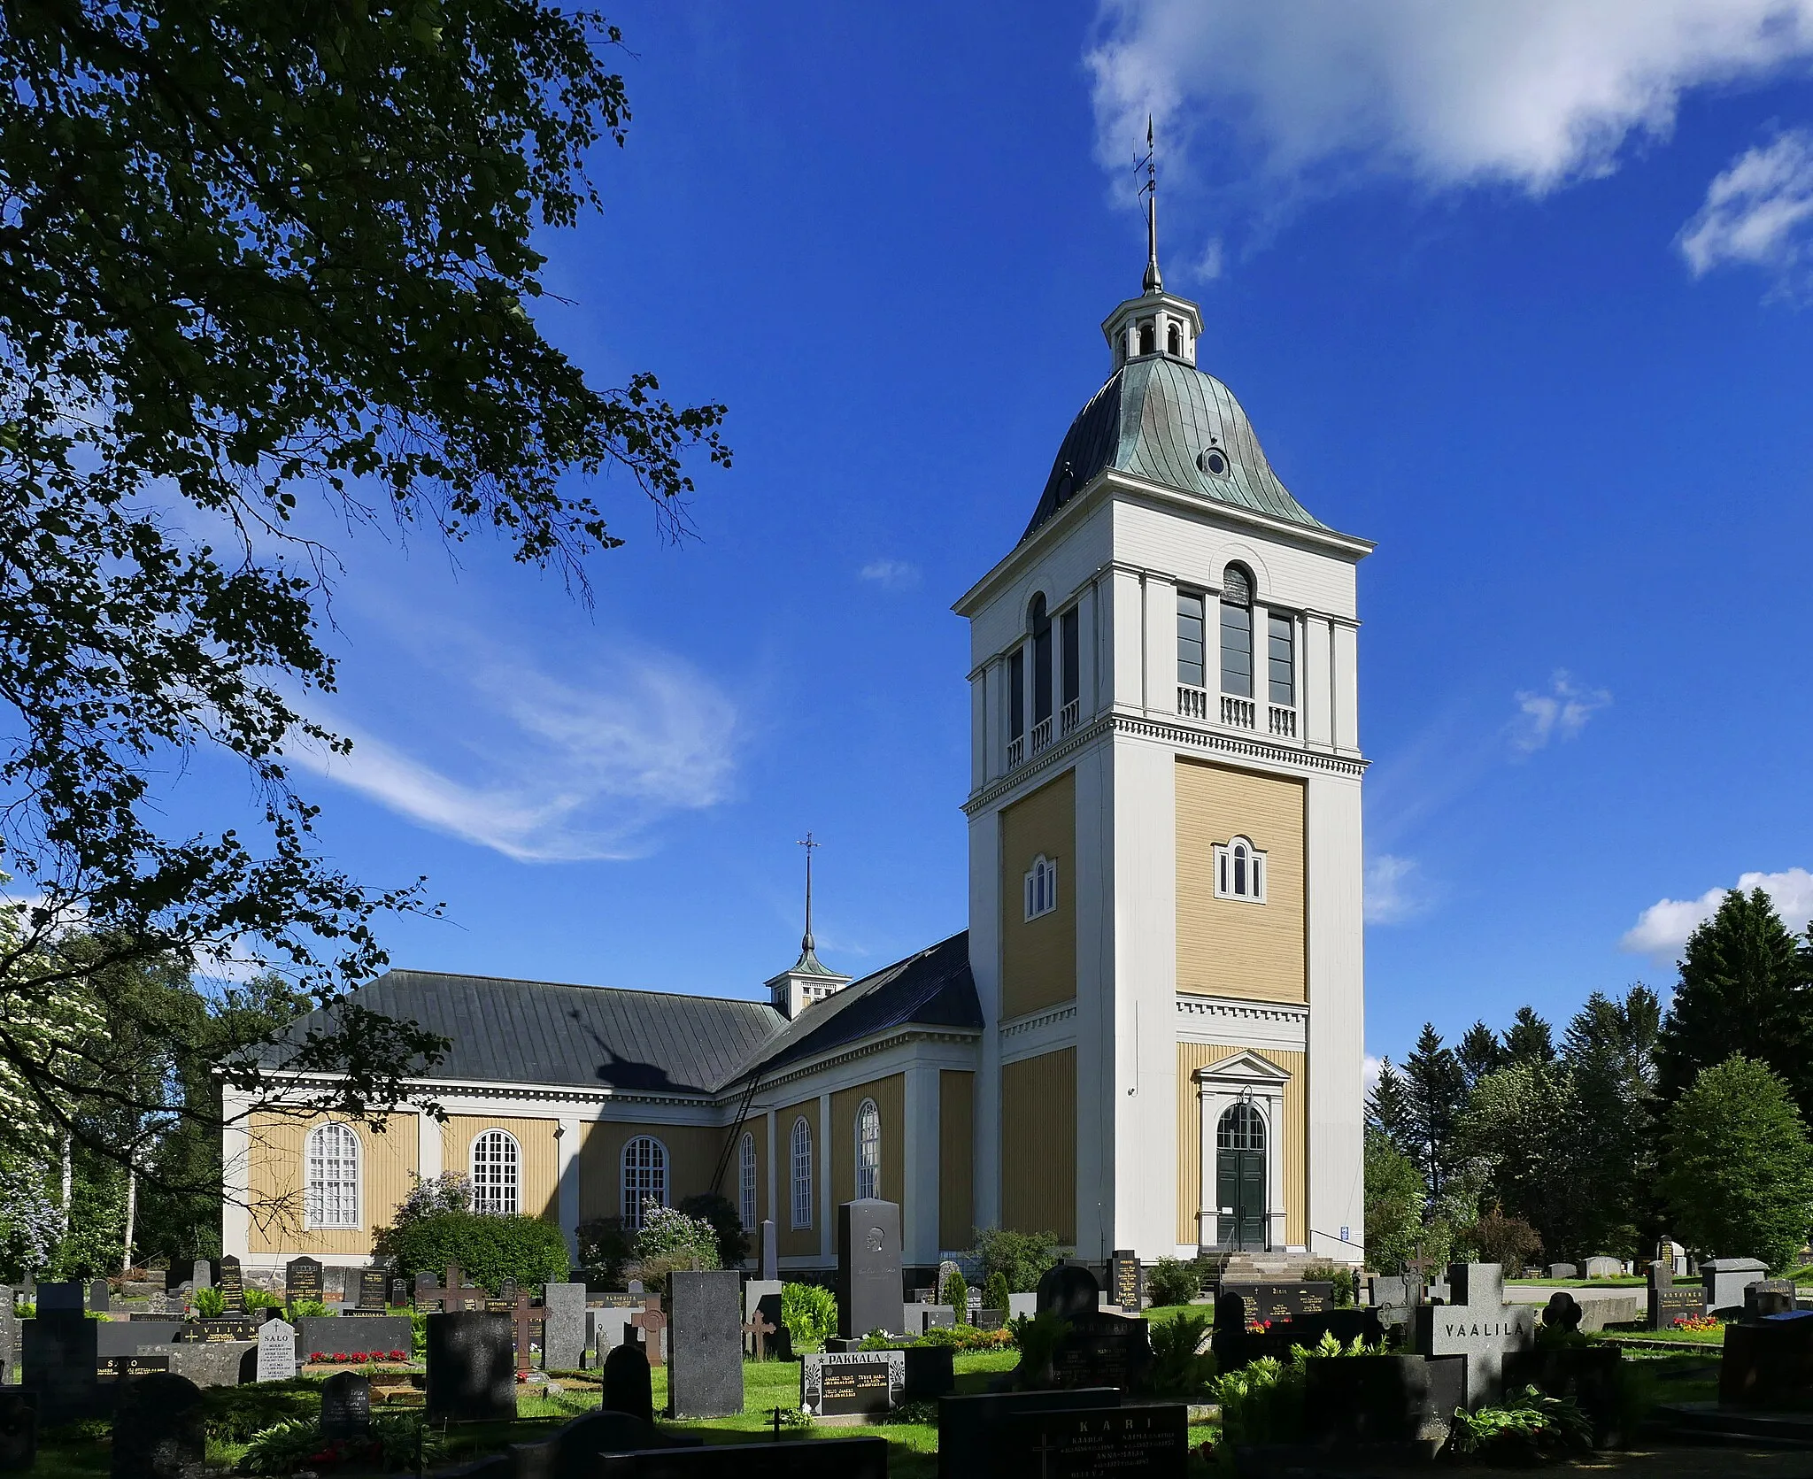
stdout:
[[372,1234],[386,1227],[413,1185],[415,1115],[384,1116],[384,1133],[350,1124],[359,1136],[359,1227],[303,1227],[303,1142],[334,1115],[288,1118],[254,1115],[248,1124],[252,1231],[248,1252],[370,1254]]

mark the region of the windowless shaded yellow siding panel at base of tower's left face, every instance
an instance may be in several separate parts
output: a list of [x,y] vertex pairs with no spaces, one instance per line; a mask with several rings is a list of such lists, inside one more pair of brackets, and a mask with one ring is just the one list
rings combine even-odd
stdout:
[[1001,1223],[1075,1242],[1075,1048],[1001,1068]]

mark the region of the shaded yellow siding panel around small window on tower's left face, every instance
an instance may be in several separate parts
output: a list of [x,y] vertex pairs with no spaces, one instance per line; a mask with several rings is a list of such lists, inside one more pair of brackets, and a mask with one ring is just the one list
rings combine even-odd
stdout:
[[[1057,908],[1026,919],[1026,874],[1057,865]],[[1077,995],[1077,772],[1066,770],[1001,812],[1001,1015]]]

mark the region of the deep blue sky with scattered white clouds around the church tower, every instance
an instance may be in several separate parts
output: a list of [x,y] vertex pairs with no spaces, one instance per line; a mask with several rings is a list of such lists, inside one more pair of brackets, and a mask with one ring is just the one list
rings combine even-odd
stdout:
[[[627,482],[595,605],[341,538],[332,856],[395,964],[756,995],[965,924],[966,638],[1168,285],[1362,567],[1367,1048],[1666,988],[1704,895],[1813,914],[1813,4],[613,11],[635,121],[549,237],[602,384],[723,401],[696,538]],[[1713,895],[1715,897],[1715,895]]]

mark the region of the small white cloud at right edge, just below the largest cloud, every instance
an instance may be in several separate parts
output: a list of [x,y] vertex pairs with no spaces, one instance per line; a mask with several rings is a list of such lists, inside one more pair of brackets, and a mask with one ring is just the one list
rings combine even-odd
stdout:
[[1791,288],[1813,261],[1813,132],[1797,129],[1739,154],[1677,245],[1695,277],[1737,263],[1768,268]]

